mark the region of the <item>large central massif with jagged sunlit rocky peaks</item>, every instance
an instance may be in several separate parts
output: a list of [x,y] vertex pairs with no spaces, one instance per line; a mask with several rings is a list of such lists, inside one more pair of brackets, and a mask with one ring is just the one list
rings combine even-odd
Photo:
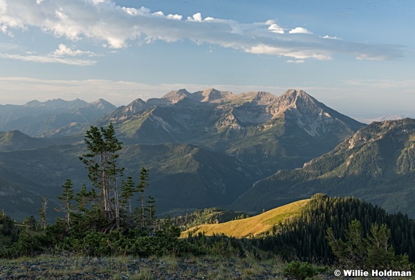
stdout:
[[214,88],[134,100],[98,120],[99,125],[109,122],[126,143],[196,144],[246,162],[259,176],[300,167],[364,126],[304,91],[277,97]]

